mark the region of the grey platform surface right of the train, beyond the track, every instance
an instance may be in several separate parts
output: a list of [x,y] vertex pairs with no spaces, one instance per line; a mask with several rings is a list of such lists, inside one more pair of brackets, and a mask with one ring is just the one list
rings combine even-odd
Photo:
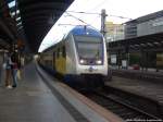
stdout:
[[113,76],[112,82],[108,82],[105,85],[116,90],[152,100],[160,107],[160,111],[163,112],[163,84]]

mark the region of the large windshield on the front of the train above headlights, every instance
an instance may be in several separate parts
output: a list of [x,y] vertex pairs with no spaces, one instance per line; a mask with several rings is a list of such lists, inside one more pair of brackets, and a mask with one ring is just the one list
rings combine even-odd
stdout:
[[78,56],[82,59],[102,58],[102,38],[89,36],[75,36]]

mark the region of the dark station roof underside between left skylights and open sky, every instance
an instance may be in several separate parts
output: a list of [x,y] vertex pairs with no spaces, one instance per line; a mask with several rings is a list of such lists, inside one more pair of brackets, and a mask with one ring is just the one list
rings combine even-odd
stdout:
[[25,34],[33,52],[74,0],[5,0],[17,32]]

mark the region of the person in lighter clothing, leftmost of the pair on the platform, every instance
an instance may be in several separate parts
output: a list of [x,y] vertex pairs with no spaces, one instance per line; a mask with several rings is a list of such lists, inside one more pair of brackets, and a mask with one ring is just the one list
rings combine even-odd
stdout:
[[12,88],[11,86],[11,57],[10,52],[7,52],[4,56],[4,63],[5,63],[5,87]]

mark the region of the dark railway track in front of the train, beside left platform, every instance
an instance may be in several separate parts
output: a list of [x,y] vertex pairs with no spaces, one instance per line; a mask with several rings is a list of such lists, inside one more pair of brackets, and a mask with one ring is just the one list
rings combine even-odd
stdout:
[[100,106],[104,107],[105,109],[114,112],[115,114],[120,115],[122,119],[126,121],[160,121],[162,120],[155,115],[149,114],[134,106],[127,105],[120,100],[120,98],[115,95],[106,95],[105,93],[101,91],[89,91],[84,93],[85,96],[90,98],[91,100],[96,101]]

